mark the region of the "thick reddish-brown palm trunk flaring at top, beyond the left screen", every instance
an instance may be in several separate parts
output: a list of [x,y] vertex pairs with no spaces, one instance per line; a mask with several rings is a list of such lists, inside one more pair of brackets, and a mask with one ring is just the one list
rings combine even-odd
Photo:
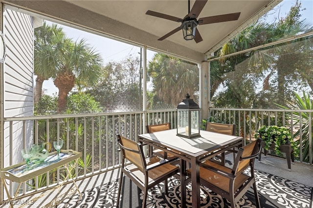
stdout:
[[58,96],[58,114],[66,110],[67,95],[75,86],[75,76],[72,73],[63,73],[54,80],[54,85],[59,88]]

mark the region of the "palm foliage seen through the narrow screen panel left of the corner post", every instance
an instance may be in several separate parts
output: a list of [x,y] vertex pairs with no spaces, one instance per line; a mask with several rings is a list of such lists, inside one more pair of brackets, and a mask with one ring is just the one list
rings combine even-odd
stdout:
[[199,91],[199,68],[196,64],[157,53],[149,62],[147,73],[152,78],[155,105],[161,103],[176,107],[187,93],[198,100],[195,98]]

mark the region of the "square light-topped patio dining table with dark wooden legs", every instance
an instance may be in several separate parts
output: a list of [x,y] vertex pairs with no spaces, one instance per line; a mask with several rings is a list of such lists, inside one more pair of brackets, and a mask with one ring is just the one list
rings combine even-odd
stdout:
[[200,208],[200,163],[233,147],[244,145],[244,138],[200,131],[199,137],[188,139],[176,135],[177,129],[138,135],[138,141],[180,158],[181,207],[186,207],[186,162],[191,164],[192,207]]

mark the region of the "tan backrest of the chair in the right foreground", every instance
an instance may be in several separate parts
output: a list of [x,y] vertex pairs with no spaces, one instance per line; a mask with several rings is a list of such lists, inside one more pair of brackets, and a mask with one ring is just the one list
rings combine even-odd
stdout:
[[[255,140],[246,146],[240,147],[233,166],[235,175],[243,172],[249,165],[250,161],[257,156],[257,151],[261,148],[261,141]],[[254,157],[251,157],[254,156]]]

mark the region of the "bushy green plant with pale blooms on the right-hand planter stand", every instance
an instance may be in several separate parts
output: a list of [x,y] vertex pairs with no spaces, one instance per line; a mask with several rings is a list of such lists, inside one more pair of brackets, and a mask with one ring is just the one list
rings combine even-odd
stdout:
[[290,145],[293,148],[293,155],[297,157],[299,154],[299,149],[293,141],[291,131],[285,126],[262,125],[254,135],[256,139],[259,137],[264,141],[264,149],[266,150],[273,144],[273,149],[278,155],[281,155],[280,146]]

